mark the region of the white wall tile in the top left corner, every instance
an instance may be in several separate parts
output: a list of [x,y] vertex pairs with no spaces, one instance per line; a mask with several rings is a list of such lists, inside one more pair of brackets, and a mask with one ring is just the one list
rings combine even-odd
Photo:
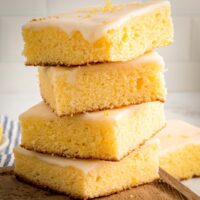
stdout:
[[46,0],[0,0],[0,15],[44,16]]

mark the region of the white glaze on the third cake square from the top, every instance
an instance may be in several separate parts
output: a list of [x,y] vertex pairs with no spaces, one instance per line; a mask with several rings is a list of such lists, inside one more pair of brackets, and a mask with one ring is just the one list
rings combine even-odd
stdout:
[[[143,109],[147,106],[158,106],[162,105],[161,102],[149,102],[149,103],[143,103],[139,105],[131,105],[126,106],[123,108],[118,109],[111,109],[111,110],[105,110],[105,111],[98,111],[98,112],[90,112],[90,113],[84,113],[80,115],[74,115],[74,120],[81,119],[81,120],[93,120],[93,121],[117,121],[120,120],[122,117],[128,115],[129,113],[133,113],[134,111],[137,111],[138,109]],[[51,109],[48,108],[48,106],[41,102],[37,104],[36,106],[30,108],[28,111],[23,113],[20,118],[23,117],[37,117],[37,118],[44,118],[45,119],[57,119],[59,120],[59,117],[56,116],[54,112],[51,111]],[[63,119],[71,118],[71,116],[65,116],[62,117]]]

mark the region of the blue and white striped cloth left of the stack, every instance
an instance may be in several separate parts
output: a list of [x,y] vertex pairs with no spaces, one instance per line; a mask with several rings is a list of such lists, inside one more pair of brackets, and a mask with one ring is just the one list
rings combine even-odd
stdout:
[[3,126],[3,135],[9,140],[6,148],[0,152],[0,167],[12,166],[14,163],[13,148],[21,140],[19,123],[6,116],[0,116],[0,124]]

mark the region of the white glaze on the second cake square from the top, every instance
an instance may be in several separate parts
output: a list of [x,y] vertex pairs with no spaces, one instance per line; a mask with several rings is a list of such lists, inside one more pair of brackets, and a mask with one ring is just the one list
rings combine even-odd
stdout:
[[84,67],[74,67],[74,68],[66,68],[66,67],[40,67],[42,70],[49,71],[52,75],[52,79],[56,79],[57,76],[66,76],[66,82],[70,84],[76,84],[77,77],[79,72],[84,72],[85,70],[93,70],[93,72],[102,70],[119,70],[119,69],[126,69],[126,68],[134,68],[139,65],[147,63],[159,63],[161,71],[164,69],[165,63],[163,58],[155,51],[149,52],[143,56],[140,56],[137,59],[127,61],[127,62],[113,62],[113,63],[101,63],[101,64],[94,64],[88,65]]

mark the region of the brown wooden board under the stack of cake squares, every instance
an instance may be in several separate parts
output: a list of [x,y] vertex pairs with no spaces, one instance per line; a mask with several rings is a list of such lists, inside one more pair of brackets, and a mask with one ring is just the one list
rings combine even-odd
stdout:
[[[99,200],[200,200],[187,187],[160,169],[160,180],[113,194]],[[18,181],[12,168],[0,168],[0,200],[71,200]]]

